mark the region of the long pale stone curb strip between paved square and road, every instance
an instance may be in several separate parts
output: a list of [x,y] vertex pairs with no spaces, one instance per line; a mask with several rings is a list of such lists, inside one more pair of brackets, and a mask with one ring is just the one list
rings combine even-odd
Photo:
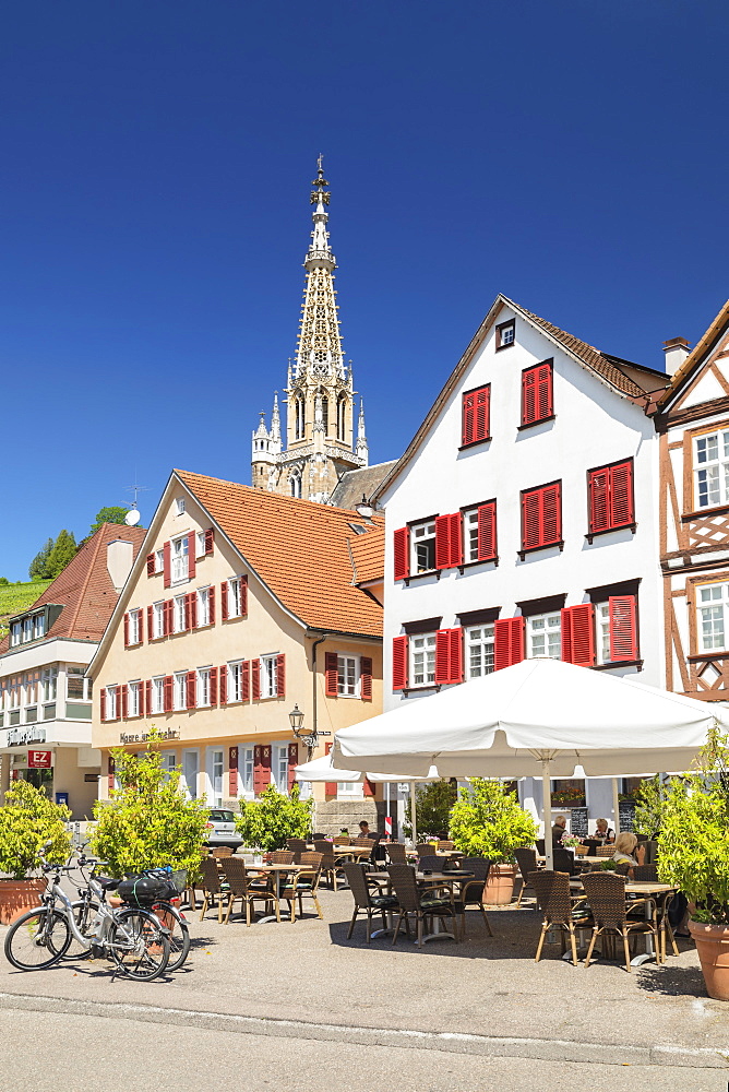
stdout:
[[630,1046],[577,1043],[557,1038],[398,1031],[391,1028],[352,1028],[306,1020],[264,1019],[198,1009],[163,1008],[156,1005],[129,1005],[124,1001],[82,1001],[64,997],[49,997],[43,994],[0,993],[0,1009],[25,1012],[62,1012],[67,1016],[139,1020],[143,1023],[227,1031],[239,1035],[266,1035],[272,1038],[319,1040],[345,1044],[357,1043],[363,1046],[396,1046],[403,1049],[440,1051],[446,1054],[468,1054],[481,1057],[533,1058],[539,1061],[583,1061],[603,1066],[729,1068],[729,1056],[710,1047],[690,1049],[681,1046]]

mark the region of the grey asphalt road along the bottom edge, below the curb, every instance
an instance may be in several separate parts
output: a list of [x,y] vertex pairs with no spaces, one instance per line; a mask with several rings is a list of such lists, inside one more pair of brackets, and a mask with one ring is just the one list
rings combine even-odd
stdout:
[[727,1072],[483,1058],[0,1010],[2,1092],[727,1092]]

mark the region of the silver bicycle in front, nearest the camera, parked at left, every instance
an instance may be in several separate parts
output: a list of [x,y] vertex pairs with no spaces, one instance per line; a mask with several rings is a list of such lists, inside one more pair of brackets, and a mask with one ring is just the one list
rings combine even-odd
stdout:
[[169,930],[148,910],[131,906],[112,910],[106,892],[112,891],[119,880],[105,876],[89,878],[87,895],[81,903],[93,903],[95,912],[82,931],[76,924],[80,904],[76,903],[74,912],[73,903],[60,886],[61,873],[71,871],[70,860],[53,865],[41,856],[40,863],[48,877],[43,905],[20,917],[5,937],[5,957],[13,966],[19,971],[47,970],[63,959],[75,940],[82,951],[111,959],[122,974],[136,982],[152,982],[166,971]]

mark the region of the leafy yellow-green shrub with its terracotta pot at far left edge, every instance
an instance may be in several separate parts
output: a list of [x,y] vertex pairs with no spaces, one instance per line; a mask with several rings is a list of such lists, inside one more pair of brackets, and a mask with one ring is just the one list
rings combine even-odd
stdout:
[[10,925],[27,910],[37,906],[46,890],[45,879],[34,878],[44,846],[45,856],[63,864],[71,854],[71,835],[65,823],[70,810],[53,804],[44,792],[27,781],[16,781],[5,793],[0,807],[0,923]]

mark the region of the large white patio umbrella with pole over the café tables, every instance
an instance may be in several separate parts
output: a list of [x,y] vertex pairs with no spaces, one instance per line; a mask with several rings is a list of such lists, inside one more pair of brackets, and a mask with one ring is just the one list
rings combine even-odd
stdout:
[[435,765],[442,778],[541,775],[545,850],[550,779],[688,769],[729,709],[645,686],[633,677],[525,660],[337,732],[339,765],[408,774]]

